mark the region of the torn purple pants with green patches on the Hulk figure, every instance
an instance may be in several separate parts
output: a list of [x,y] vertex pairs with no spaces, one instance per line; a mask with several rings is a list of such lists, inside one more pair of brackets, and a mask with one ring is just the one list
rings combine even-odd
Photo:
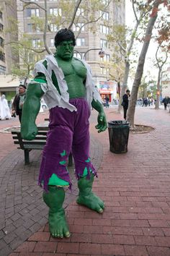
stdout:
[[66,167],[71,151],[77,179],[83,176],[85,168],[87,179],[90,171],[97,175],[89,158],[89,105],[84,98],[71,99],[69,102],[76,106],[77,111],[71,112],[58,106],[50,109],[49,131],[39,174],[39,184],[43,184],[46,191],[52,174],[69,182],[71,188],[71,179]]

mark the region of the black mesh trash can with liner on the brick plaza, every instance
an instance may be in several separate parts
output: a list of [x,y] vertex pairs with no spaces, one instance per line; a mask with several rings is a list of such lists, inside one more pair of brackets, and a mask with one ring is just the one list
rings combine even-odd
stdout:
[[128,151],[130,125],[128,121],[108,121],[109,150],[113,153]]

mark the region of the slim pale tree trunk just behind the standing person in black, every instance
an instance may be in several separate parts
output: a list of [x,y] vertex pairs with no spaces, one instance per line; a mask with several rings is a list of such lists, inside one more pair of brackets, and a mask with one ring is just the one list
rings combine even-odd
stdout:
[[125,61],[125,73],[124,73],[124,76],[123,76],[122,86],[120,88],[120,101],[119,101],[119,106],[118,106],[118,109],[117,109],[118,113],[120,113],[120,111],[122,110],[122,105],[121,105],[122,96],[125,94],[125,91],[127,89],[129,71],[130,71],[130,63],[129,63],[129,61]]

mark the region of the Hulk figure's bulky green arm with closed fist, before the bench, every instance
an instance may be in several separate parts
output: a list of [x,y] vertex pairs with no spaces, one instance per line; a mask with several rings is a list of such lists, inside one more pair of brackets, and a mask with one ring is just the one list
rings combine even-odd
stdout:
[[34,140],[37,135],[35,119],[40,111],[40,99],[43,94],[39,83],[28,85],[22,109],[21,135],[24,140]]

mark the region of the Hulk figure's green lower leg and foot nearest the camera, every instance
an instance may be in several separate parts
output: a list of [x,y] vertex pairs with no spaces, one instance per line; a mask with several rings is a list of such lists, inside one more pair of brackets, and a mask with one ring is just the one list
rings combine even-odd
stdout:
[[49,207],[48,221],[50,234],[54,237],[69,237],[70,232],[63,209],[65,191],[62,187],[48,186],[49,192],[43,192],[43,200]]

